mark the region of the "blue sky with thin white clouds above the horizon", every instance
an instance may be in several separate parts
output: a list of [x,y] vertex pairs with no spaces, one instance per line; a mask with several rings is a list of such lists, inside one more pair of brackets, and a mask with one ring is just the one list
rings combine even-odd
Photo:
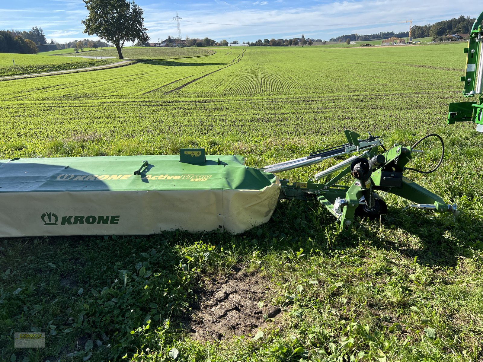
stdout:
[[[407,31],[458,15],[476,16],[477,9],[457,9],[455,0],[135,0],[144,11],[152,42],[177,36],[176,11],[183,18],[183,38],[209,37],[254,42],[264,38],[306,37],[328,40],[342,34]],[[1,0],[0,29],[42,27],[48,40],[67,42],[89,38],[81,20],[87,15],[82,0]],[[465,12],[469,12],[468,14]],[[237,24],[216,25],[202,23]],[[262,26],[265,25],[265,26]],[[98,39],[95,36],[93,39]],[[128,44],[127,44],[128,45]]]

